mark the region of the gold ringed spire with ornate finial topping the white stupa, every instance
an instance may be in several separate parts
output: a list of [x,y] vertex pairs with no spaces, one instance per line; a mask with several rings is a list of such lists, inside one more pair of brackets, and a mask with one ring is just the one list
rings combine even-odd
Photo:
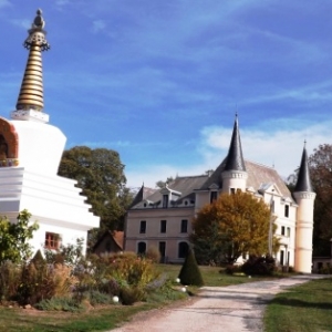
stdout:
[[23,45],[28,49],[29,58],[25,66],[24,76],[17,103],[17,110],[42,111],[43,103],[43,72],[41,52],[50,50],[50,44],[45,39],[46,31],[43,30],[45,21],[42,11],[37,11],[29,35]]

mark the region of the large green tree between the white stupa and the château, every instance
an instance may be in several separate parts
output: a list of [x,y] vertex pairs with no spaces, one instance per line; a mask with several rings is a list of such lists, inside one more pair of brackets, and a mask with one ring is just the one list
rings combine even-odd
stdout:
[[117,152],[75,146],[63,153],[59,175],[77,180],[92,212],[101,217],[100,234],[123,229],[124,216],[133,197],[125,187],[124,165]]

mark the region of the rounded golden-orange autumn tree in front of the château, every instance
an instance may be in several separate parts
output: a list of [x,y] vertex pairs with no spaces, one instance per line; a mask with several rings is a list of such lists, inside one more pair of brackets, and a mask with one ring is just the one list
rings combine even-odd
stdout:
[[[234,263],[241,255],[268,252],[271,215],[269,207],[248,193],[222,194],[204,206],[193,222],[196,257]],[[273,231],[276,227],[273,227]]]

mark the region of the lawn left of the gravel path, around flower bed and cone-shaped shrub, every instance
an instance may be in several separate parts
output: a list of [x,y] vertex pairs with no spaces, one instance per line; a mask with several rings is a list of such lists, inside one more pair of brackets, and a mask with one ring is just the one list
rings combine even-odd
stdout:
[[[179,273],[180,266],[158,264],[160,273],[166,273],[170,280],[175,280]],[[262,278],[232,277],[219,273],[218,267],[200,267],[206,286],[229,286],[249,281],[262,280]],[[197,289],[191,289],[193,293]],[[184,297],[180,293],[179,297]],[[90,308],[81,313],[46,312],[20,308],[0,307],[0,331],[13,332],[93,332],[106,331],[116,328],[120,323],[128,321],[131,317],[139,311],[166,305],[169,301],[178,299],[174,294],[154,294],[152,299],[135,305],[104,305]]]

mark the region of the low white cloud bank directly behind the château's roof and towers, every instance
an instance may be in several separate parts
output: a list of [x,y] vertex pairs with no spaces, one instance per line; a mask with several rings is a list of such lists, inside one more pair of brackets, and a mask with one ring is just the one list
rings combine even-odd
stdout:
[[[287,178],[300,165],[304,139],[310,155],[320,144],[331,144],[332,122],[324,124],[311,124],[302,128],[292,127],[293,120],[289,120],[289,127],[280,124],[282,121],[269,123],[261,128],[240,128],[243,157],[251,162],[273,166],[277,172]],[[201,163],[191,166],[183,166],[187,160],[175,160],[172,165],[154,164],[144,169],[126,168],[127,185],[139,187],[144,183],[154,187],[157,180],[165,180],[168,176],[201,175],[207,169],[215,169],[226,157],[232,128],[205,127],[201,129],[201,142],[197,153],[201,156]]]

